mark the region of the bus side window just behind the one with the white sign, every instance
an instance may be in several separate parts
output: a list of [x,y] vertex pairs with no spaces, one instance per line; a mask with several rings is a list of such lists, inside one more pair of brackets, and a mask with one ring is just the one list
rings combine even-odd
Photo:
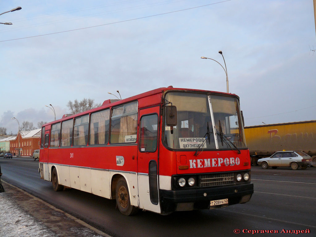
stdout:
[[109,140],[110,110],[92,113],[89,145],[107,144]]

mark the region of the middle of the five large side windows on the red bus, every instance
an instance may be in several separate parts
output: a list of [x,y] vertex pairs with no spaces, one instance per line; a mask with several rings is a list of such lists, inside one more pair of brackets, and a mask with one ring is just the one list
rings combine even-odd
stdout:
[[85,146],[88,143],[89,115],[75,119],[74,146]]

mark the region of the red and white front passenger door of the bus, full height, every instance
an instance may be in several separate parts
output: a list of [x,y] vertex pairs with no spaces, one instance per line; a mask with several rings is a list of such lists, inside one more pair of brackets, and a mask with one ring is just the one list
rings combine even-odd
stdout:
[[160,106],[139,110],[137,179],[139,207],[160,213],[158,197],[158,137]]

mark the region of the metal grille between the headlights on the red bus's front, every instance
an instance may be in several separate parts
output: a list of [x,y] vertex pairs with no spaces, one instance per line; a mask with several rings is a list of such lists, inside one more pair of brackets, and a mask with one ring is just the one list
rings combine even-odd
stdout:
[[234,184],[234,173],[200,175],[200,187],[220,186],[228,184]]

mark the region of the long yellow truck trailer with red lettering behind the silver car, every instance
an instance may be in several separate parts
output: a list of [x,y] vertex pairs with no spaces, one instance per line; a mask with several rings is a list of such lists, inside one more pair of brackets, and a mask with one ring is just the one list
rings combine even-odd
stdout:
[[245,126],[246,144],[252,165],[277,151],[302,151],[316,167],[316,120]]

